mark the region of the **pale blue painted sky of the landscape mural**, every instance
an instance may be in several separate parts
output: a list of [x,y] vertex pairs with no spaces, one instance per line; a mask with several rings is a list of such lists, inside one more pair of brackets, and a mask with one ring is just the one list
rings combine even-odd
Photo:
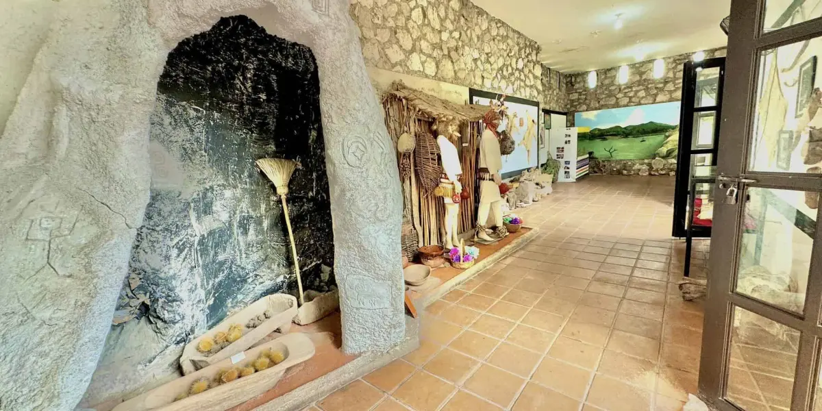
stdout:
[[614,126],[635,126],[645,122],[663,122],[676,126],[679,124],[680,102],[648,104],[620,109],[605,109],[576,113],[576,127],[608,128]]

